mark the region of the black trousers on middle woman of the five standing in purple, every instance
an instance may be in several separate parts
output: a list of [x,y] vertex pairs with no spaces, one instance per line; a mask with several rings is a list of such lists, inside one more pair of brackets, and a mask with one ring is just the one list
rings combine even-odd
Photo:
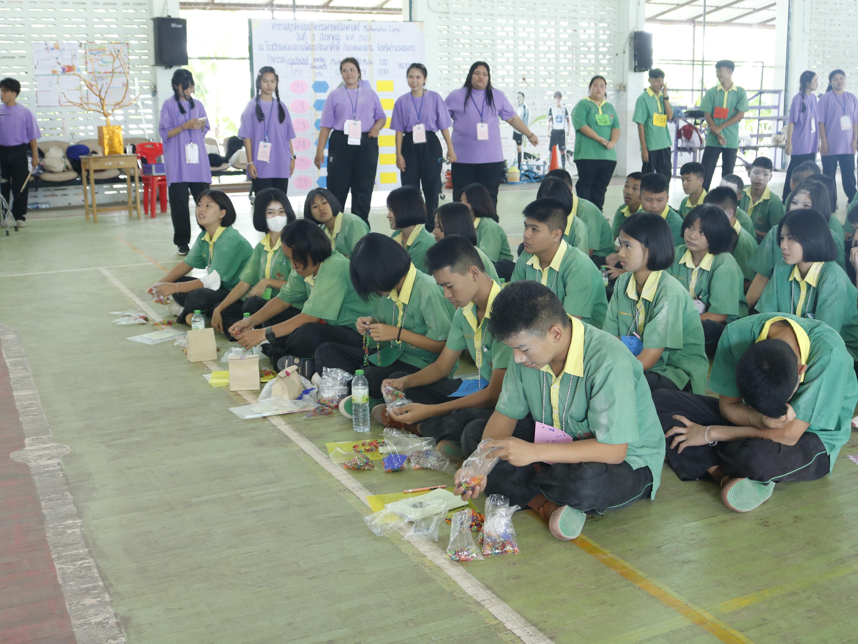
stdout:
[[[352,214],[369,223],[372,189],[378,169],[378,138],[360,135],[360,145],[349,145],[344,132],[332,130],[328,139],[328,190],[345,207],[352,191]],[[354,331],[357,333],[357,331]]]

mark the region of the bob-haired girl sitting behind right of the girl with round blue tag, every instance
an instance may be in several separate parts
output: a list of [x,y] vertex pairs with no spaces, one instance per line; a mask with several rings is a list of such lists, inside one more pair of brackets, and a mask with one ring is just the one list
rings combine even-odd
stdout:
[[668,272],[691,295],[700,313],[706,354],[715,355],[724,327],[748,314],[745,277],[730,254],[736,231],[718,206],[701,204],[686,215],[681,234],[686,243],[676,246]]

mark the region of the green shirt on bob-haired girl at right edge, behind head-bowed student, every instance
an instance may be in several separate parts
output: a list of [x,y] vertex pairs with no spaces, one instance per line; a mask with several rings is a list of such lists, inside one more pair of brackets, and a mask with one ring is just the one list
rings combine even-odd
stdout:
[[760,295],[759,313],[791,313],[831,326],[858,361],[858,289],[834,262],[814,262],[801,279],[798,266],[782,259]]

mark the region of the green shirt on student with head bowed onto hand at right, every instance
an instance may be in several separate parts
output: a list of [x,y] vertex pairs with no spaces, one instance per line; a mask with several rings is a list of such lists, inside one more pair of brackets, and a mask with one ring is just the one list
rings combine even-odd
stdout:
[[712,363],[710,387],[722,396],[740,398],[736,362],[753,343],[768,337],[767,325],[777,320],[786,320],[793,326],[801,347],[801,363],[807,365],[789,404],[796,418],[810,423],[807,431],[822,440],[833,469],[837,453],[851,434],[852,414],[858,403],[858,381],[855,380],[855,362],[843,339],[825,322],[797,318],[789,313],[760,313],[727,325]]

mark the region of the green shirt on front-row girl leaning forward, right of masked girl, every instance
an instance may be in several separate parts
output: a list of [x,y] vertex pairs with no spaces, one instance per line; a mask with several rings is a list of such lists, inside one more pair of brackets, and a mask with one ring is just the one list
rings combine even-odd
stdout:
[[315,277],[302,277],[293,270],[277,296],[289,304],[302,304],[303,313],[335,326],[354,326],[358,318],[378,308],[377,296],[364,301],[354,290],[348,259],[336,251],[322,262]]

